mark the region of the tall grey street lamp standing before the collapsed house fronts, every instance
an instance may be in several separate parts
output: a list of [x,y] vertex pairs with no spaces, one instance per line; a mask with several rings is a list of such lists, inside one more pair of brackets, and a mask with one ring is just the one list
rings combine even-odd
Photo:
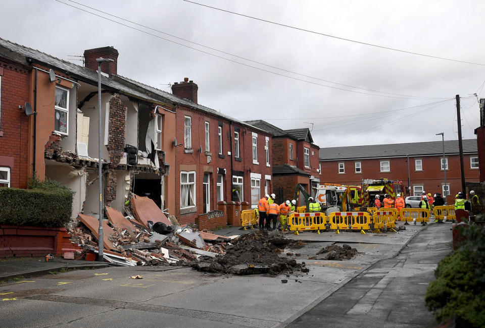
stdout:
[[103,180],[101,179],[103,170],[103,160],[101,159],[101,63],[114,62],[114,60],[109,58],[96,58],[96,62],[98,62],[98,181],[100,184],[100,227],[98,229],[98,261],[103,262],[103,249],[105,248],[105,244],[103,242]]

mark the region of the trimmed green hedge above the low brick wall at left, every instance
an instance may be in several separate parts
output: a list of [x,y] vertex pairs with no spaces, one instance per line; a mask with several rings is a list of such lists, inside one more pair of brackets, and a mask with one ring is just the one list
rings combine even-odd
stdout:
[[71,220],[73,191],[53,180],[33,180],[29,187],[0,188],[0,224],[62,227]]

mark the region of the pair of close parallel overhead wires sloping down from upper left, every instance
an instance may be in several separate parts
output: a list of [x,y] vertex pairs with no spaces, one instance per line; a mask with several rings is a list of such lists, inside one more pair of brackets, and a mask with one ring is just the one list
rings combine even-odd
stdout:
[[135,25],[138,25],[138,26],[141,26],[141,27],[144,27],[144,28],[148,28],[148,29],[151,29],[153,31],[157,31],[159,33],[163,33],[163,34],[169,35],[171,37],[175,37],[177,39],[181,39],[181,40],[186,41],[186,42],[190,42],[190,43],[193,43],[193,44],[197,44],[199,46],[206,47],[206,48],[211,49],[211,50],[215,50],[215,51],[219,51],[219,52],[224,53],[224,54],[228,54],[229,56],[234,56],[234,57],[237,57],[237,58],[240,58],[240,59],[243,59],[243,60],[247,60],[249,62],[257,63],[257,64],[264,65],[264,66],[267,66],[267,67],[270,67],[270,68],[274,68],[274,69],[278,69],[278,70],[281,70],[281,71],[284,71],[284,72],[287,72],[287,73],[292,73],[292,74],[296,74],[296,75],[300,75],[300,76],[304,76],[304,77],[308,77],[308,78],[312,78],[312,79],[316,79],[316,80],[320,80],[320,81],[325,81],[325,82],[328,82],[328,83],[333,83],[333,84],[347,86],[347,87],[351,87],[351,88],[355,88],[355,89],[367,90],[367,91],[378,92],[378,93],[383,93],[383,94],[374,94],[374,93],[361,92],[361,91],[356,91],[356,90],[349,90],[349,89],[345,89],[345,88],[339,88],[339,87],[335,87],[335,86],[331,86],[331,85],[321,84],[321,83],[317,83],[317,82],[313,82],[313,81],[308,81],[308,80],[304,80],[304,79],[300,79],[300,78],[288,76],[288,75],[285,75],[285,74],[280,74],[280,73],[273,72],[273,71],[269,71],[269,70],[266,70],[266,69],[263,69],[263,68],[259,68],[259,67],[256,67],[256,66],[252,66],[252,65],[248,65],[248,64],[241,63],[241,62],[238,62],[238,61],[234,61],[234,60],[231,60],[229,58],[225,58],[225,57],[222,57],[222,56],[218,56],[217,54],[214,54],[214,53],[211,53],[211,52],[208,52],[208,51],[204,51],[204,50],[201,50],[201,49],[198,49],[198,48],[195,48],[195,47],[191,47],[191,46],[188,46],[186,44],[179,43],[179,42],[176,42],[176,41],[173,41],[173,40],[170,40],[170,39],[161,37],[159,35],[156,35],[156,34],[153,34],[153,33],[150,33],[150,32],[147,32],[147,31],[144,31],[144,30],[141,30],[141,29],[138,29],[138,28],[135,28],[133,26],[129,26],[129,25],[123,24],[123,23],[118,22],[118,21],[115,21],[113,19],[110,19],[110,18],[101,16],[101,15],[98,15],[98,14],[95,14],[95,13],[92,13],[92,12],[89,12],[89,11],[87,11],[85,9],[82,9],[82,8],[79,8],[79,7],[76,7],[76,6],[73,6],[71,4],[67,4],[67,3],[65,3],[63,1],[56,0],[56,2],[59,2],[59,3],[64,4],[66,6],[69,6],[69,7],[75,8],[75,9],[78,9],[80,11],[83,11],[85,13],[91,14],[91,15],[96,16],[96,17],[103,18],[103,19],[108,20],[110,22],[113,22],[113,23],[116,23],[116,24],[119,24],[119,25],[122,25],[122,26],[125,26],[125,27],[128,27],[128,28],[131,28],[131,29],[136,30],[138,32],[142,32],[142,33],[145,33],[145,34],[148,34],[148,35],[151,35],[151,36],[155,36],[155,37],[160,38],[162,40],[165,40],[165,41],[168,41],[168,42],[172,42],[172,43],[175,43],[175,44],[184,46],[184,47],[189,48],[189,49],[192,49],[192,50],[200,51],[202,53],[209,54],[210,56],[214,56],[214,57],[217,57],[217,58],[220,58],[220,59],[223,59],[223,60],[226,60],[226,61],[235,63],[235,64],[243,65],[243,66],[246,66],[246,67],[250,67],[250,68],[253,68],[253,69],[256,69],[256,70],[260,70],[260,71],[263,71],[263,72],[271,73],[271,74],[278,75],[278,76],[281,76],[281,77],[286,77],[286,78],[293,79],[293,80],[297,80],[297,81],[302,81],[302,82],[306,82],[306,83],[310,83],[310,84],[314,84],[314,85],[318,85],[318,86],[323,86],[323,87],[326,87],[326,88],[331,88],[331,89],[336,89],[336,90],[342,90],[342,91],[348,91],[348,92],[354,92],[354,93],[360,93],[360,94],[366,94],[366,95],[372,95],[372,96],[378,96],[378,97],[397,98],[397,99],[412,99],[412,98],[420,98],[420,99],[444,99],[444,98],[433,98],[433,97],[409,96],[409,95],[403,95],[403,94],[399,94],[399,93],[390,93],[390,92],[384,92],[384,91],[377,91],[377,90],[365,89],[365,88],[355,87],[355,86],[351,86],[351,85],[347,85],[347,84],[342,84],[342,83],[332,82],[332,81],[328,81],[328,80],[323,80],[323,79],[320,79],[320,78],[311,77],[311,76],[304,75],[304,74],[300,74],[300,73],[296,73],[296,72],[293,72],[293,71],[284,70],[284,69],[277,68],[277,67],[274,67],[274,66],[266,65],[264,63],[260,63],[260,62],[256,62],[256,61],[253,61],[253,60],[250,60],[250,59],[246,59],[244,57],[239,57],[239,56],[236,56],[236,55],[231,54],[231,53],[228,53],[228,52],[224,52],[224,51],[221,51],[221,50],[217,50],[215,48],[211,48],[211,47],[202,45],[200,43],[196,43],[196,42],[192,42],[192,41],[189,41],[189,40],[186,40],[186,39],[182,39],[182,38],[179,38],[177,36],[174,36],[174,35],[171,35],[171,34],[168,34],[168,33],[165,33],[165,32],[162,32],[162,31],[159,31],[159,30],[156,30],[156,29],[153,29],[153,28],[150,28],[150,27],[147,27],[147,26],[144,26],[144,25],[141,25],[141,24],[138,24],[138,23],[135,23],[135,22],[132,22],[132,21],[123,19],[121,17],[115,16],[115,15],[111,15],[109,13],[100,11],[98,9],[94,9],[92,7],[88,7],[88,6],[82,5],[82,4],[77,3],[75,1],[72,1],[72,0],[66,0],[66,1],[70,1],[70,2],[75,3],[75,4],[78,4],[80,6],[83,6],[83,7],[86,7],[86,8],[95,10],[95,11],[98,11],[100,13],[103,13],[103,14],[106,14],[106,15],[109,15],[109,16],[112,16],[112,17],[121,19],[121,20],[124,20],[126,22],[131,23],[131,24],[135,24]]

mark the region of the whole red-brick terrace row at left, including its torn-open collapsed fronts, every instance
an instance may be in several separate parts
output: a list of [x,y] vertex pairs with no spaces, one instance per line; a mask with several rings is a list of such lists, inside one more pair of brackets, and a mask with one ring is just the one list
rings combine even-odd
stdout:
[[[102,160],[96,58],[113,60],[101,66]],[[240,210],[272,192],[270,133],[198,104],[188,79],[171,94],[118,75],[113,47],[84,59],[0,39],[0,186],[26,188],[35,172],[75,191],[73,217],[98,216],[102,165],[105,204],[121,210],[132,193],[148,196],[182,224],[218,217],[213,226],[227,223],[219,202]]]

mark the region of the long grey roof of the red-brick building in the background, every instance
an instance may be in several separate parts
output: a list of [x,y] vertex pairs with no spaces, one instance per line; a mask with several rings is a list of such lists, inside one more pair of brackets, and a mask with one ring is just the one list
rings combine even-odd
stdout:
[[[478,153],[476,139],[463,140],[463,153]],[[409,156],[442,155],[443,141],[395,143],[387,145],[366,145],[320,148],[318,157],[321,161],[365,158],[388,158]],[[445,154],[459,154],[458,140],[445,141]]]

